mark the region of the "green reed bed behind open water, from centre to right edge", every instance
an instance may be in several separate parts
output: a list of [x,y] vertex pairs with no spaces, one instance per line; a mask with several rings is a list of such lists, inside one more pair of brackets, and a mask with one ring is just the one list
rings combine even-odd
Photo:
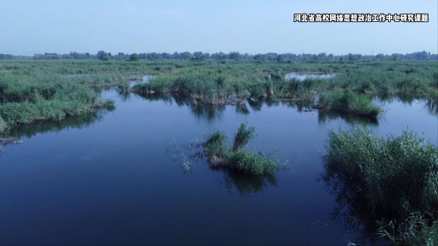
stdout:
[[[376,97],[415,96],[437,98],[437,63],[365,62],[352,64],[254,62],[181,63],[159,72],[147,84],[137,85],[144,94],[172,93],[193,104],[239,104],[245,100],[294,100],[309,107],[376,117],[381,109]],[[287,72],[336,72],[331,79],[287,80]],[[318,100],[318,97],[320,100]]]

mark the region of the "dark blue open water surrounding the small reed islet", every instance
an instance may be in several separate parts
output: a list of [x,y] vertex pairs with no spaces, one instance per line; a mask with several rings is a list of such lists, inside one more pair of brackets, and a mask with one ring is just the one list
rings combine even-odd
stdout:
[[[174,98],[106,90],[116,109],[18,128],[22,144],[0,155],[3,244],[347,245],[357,232],[334,218],[322,153],[329,129],[361,118],[300,111],[287,103],[189,107]],[[437,115],[423,100],[380,102],[379,134],[404,129],[438,144]],[[243,178],[190,159],[188,145],[221,130],[232,139],[255,126],[248,148],[275,153],[289,168]]]

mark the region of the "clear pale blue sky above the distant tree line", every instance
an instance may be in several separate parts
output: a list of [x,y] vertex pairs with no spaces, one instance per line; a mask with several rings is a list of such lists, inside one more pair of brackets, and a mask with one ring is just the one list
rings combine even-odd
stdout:
[[[438,53],[438,1],[0,0],[0,53]],[[294,23],[294,13],[428,13],[429,23]]]

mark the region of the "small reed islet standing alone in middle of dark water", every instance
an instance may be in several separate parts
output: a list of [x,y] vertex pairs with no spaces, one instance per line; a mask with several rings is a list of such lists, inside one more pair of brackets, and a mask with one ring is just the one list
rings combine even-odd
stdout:
[[227,145],[227,135],[220,131],[211,133],[205,141],[205,152],[212,167],[235,169],[242,174],[274,174],[279,164],[273,156],[244,150],[244,146],[255,133],[254,128],[241,124],[235,134],[233,148]]

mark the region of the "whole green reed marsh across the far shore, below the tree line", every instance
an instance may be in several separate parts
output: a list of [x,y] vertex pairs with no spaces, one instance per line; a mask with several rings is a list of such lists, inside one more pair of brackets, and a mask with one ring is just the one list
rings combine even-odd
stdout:
[[[372,95],[418,95],[437,102],[435,65],[435,61],[0,61],[0,132],[16,124],[62,120],[96,110],[101,103],[96,90],[123,89],[124,81],[140,80],[133,74],[155,77],[129,92],[170,93],[192,105],[289,100],[313,109],[376,118],[381,110],[372,103]],[[287,72],[335,72],[337,76],[298,81],[286,80]],[[324,100],[316,100],[318,96]]]

